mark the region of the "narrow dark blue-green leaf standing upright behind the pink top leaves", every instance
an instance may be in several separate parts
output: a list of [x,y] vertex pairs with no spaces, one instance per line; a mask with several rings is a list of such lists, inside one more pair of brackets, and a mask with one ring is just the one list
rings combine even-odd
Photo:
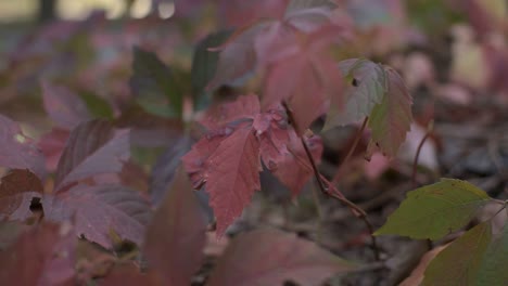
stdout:
[[211,52],[208,49],[220,46],[229,36],[231,36],[230,30],[212,34],[200,41],[194,50],[191,82],[195,109],[202,109],[211,102],[211,91],[206,90],[206,86],[214,78],[219,54]]

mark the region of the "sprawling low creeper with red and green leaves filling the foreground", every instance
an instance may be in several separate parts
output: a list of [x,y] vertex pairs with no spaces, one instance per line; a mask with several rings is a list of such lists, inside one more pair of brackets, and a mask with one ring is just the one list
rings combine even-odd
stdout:
[[[321,174],[319,134],[356,126],[350,155],[368,131],[366,159],[377,152],[394,157],[410,130],[412,96],[394,68],[339,58],[353,29],[334,2],[280,1],[272,9],[269,18],[200,40],[191,64],[167,65],[147,46],[135,47],[126,102],[41,79],[55,126],[38,141],[0,116],[1,285],[322,285],[334,274],[382,268],[380,235],[437,240],[490,204],[503,216],[508,202],[442,179],[408,192],[374,231],[369,214]],[[164,153],[147,152],[168,141]],[[147,184],[150,166],[137,160],[150,156],[157,160]],[[372,261],[257,229],[236,234],[207,269],[206,245],[227,239],[262,190],[264,170],[291,198],[314,181],[347,208],[370,235]],[[508,226],[493,235],[491,220],[444,248],[422,285],[506,284]]]

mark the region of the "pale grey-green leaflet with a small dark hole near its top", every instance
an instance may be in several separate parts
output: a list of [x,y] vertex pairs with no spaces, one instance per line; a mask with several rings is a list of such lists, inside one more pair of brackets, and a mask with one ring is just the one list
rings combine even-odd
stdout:
[[345,126],[369,116],[380,104],[388,89],[384,68],[364,58],[350,58],[339,63],[344,77],[346,105],[338,110],[330,107],[323,130]]

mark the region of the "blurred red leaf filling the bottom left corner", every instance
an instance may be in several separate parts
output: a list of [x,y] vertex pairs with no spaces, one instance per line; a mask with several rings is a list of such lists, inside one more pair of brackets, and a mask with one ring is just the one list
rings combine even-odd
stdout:
[[68,224],[34,226],[0,252],[0,285],[73,285],[75,247]]

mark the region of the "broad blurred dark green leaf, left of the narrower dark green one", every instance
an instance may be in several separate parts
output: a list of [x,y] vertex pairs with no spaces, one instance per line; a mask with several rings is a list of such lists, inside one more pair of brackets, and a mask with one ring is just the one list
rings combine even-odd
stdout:
[[148,113],[169,118],[181,117],[181,87],[174,73],[155,53],[135,47],[132,69],[130,90]]

